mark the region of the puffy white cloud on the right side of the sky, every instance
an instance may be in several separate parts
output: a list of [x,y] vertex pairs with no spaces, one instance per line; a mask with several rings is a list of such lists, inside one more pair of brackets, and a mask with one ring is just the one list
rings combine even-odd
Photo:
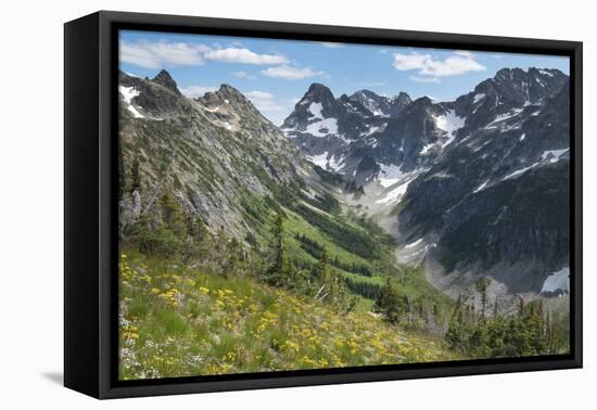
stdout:
[[[431,54],[394,53],[394,68],[398,71],[417,71],[420,79],[430,79],[427,82],[437,82],[432,78],[457,76],[469,72],[484,71],[485,66],[474,60],[474,55],[468,51],[455,51],[444,60],[434,59]],[[411,77],[412,79],[412,77]]]

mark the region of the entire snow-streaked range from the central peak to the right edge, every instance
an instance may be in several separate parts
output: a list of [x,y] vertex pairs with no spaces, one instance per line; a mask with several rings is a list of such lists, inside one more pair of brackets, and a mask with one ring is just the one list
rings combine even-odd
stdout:
[[568,274],[568,82],[557,69],[504,68],[442,103],[335,100],[313,85],[282,129],[346,188],[364,187],[345,202],[377,215],[399,259],[424,261],[440,287],[491,276],[508,293],[538,293]]

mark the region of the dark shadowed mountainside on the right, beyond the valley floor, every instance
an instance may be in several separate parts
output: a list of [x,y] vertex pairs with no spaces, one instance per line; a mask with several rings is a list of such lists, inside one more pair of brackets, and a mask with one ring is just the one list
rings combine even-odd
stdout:
[[420,241],[405,259],[429,251],[446,271],[484,272],[510,292],[539,292],[568,266],[568,82],[556,90],[530,100],[523,90],[509,101],[497,94],[493,114],[466,117],[454,144],[399,204],[399,235]]

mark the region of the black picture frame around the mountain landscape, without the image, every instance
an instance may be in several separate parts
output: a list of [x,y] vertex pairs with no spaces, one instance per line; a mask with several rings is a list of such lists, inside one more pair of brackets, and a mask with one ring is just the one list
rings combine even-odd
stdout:
[[[571,77],[571,353],[162,380],[117,377],[119,29],[566,55]],[[582,367],[582,42],[100,11],[64,26],[64,384],[96,398]]]

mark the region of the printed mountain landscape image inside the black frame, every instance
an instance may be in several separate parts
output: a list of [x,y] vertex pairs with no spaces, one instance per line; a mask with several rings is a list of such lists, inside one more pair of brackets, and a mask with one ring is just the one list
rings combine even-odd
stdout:
[[569,353],[568,59],[119,41],[119,380]]

